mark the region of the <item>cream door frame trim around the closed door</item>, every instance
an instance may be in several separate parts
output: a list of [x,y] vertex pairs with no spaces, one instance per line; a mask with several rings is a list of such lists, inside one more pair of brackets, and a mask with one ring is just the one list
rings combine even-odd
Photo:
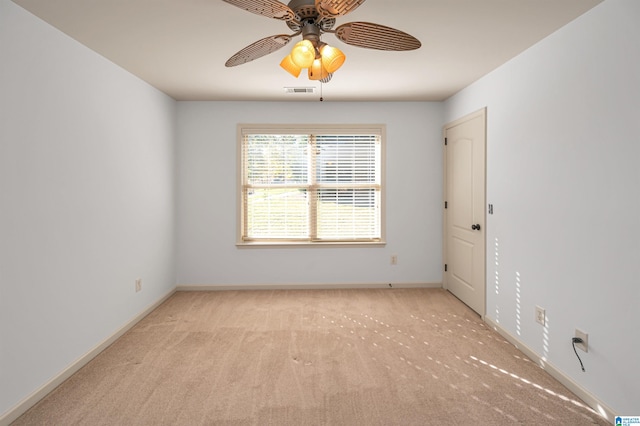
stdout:
[[484,164],[484,179],[483,179],[483,191],[484,191],[484,206],[482,207],[482,217],[483,217],[483,225],[484,225],[484,232],[482,233],[482,245],[484,247],[483,253],[484,253],[484,259],[483,259],[483,265],[484,265],[484,274],[482,276],[482,280],[483,282],[481,283],[481,285],[484,287],[484,300],[482,303],[482,312],[478,312],[480,314],[480,317],[482,319],[484,319],[485,314],[486,314],[486,310],[487,310],[487,107],[481,108],[477,111],[474,111],[470,114],[467,114],[463,117],[460,117],[454,121],[451,121],[449,123],[446,123],[444,126],[442,126],[442,146],[443,146],[443,191],[442,191],[442,195],[443,195],[443,200],[442,200],[442,224],[443,224],[443,228],[442,228],[442,260],[443,260],[443,267],[442,267],[442,287],[449,291],[449,283],[448,283],[448,272],[446,272],[444,270],[444,265],[446,265],[447,262],[447,210],[445,208],[445,202],[447,201],[448,198],[448,194],[447,194],[447,145],[445,142],[445,138],[447,135],[447,130],[455,127],[459,124],[462,124],[466,121],[472,120],[478,116],[483,117],[483,124],[484,124],[484,159],[483,159],[483,164]]

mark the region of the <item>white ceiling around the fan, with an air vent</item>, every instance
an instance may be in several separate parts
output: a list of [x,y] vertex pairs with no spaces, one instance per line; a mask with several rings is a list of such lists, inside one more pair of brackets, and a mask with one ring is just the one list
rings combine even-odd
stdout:
[[[282,21],[222,0],[13,0],[54,27],[176,100],[317,101],[320,83],[295,79],[283,49],[237,67],[245,46],[291,34]],[[367,0],[337,19],[397,28],[422,42],[409,52],[323,41],[347,55],[328,101],[439,101],[507,62],[602,0]],[[297,41],[294,40],[294,41]],[[316,87],[285,94],[284,87]]]

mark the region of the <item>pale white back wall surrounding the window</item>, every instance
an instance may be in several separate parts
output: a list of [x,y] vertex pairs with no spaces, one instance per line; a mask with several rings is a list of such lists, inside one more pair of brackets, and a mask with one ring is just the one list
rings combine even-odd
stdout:
[[[439,103],[179,102],[178,284],[441,283],[441,110]],[[237,123],[319,122],[387,125],[386,247],[237,248]]]

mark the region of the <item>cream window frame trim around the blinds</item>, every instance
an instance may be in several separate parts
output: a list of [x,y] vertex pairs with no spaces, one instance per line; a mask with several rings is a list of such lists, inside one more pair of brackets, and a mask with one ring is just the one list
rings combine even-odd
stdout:
[[[315,241],[315,240],[243,240],[243,144],[245,134],[372,134],[380,137],[380,239],[372,241]],[[236,152],[236,246],[238,247],[372,247],[386,245],[386,125],[384,124],[246,124],[237,125]]]

